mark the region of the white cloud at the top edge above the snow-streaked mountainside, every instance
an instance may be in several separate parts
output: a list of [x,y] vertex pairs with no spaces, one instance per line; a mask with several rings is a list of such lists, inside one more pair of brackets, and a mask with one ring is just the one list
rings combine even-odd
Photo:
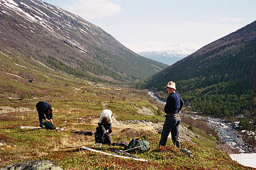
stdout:
[[65,10],[86,20],[111,17],[122,12],[121,7],[110,0],[75,0],[73,2],[67,5]]

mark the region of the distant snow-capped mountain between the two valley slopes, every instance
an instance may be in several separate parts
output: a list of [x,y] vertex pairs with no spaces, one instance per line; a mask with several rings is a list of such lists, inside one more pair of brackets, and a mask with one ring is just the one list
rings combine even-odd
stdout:
[[[144,51],[137,52],[137,54],[155,60],[164,64],[172,65],[176,61],[187,57],[188,55],[194,53],[199,49],[198,45],[184,45],[184,44],[172,44],[169,46],[162,46],[162,48],[169,48],[170,50],[160,50],[160,51]],[[161,48],[160,48],[161,49]]]

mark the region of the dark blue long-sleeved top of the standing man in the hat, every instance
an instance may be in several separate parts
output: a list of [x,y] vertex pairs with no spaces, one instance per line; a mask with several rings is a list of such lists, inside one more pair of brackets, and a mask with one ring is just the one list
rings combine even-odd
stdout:
[[178,92],[173,92],[169,94],[166,105],[165,105],[165,113],[166,114],[178,114],[183,107],[183,100]]

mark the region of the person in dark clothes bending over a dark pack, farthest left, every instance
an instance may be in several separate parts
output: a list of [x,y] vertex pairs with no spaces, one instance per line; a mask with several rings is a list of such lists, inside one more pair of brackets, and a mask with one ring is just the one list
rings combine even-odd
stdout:
[[[53,107],[47,102],[38,102],[35,105],[37,112],[38,112],[38,118],[39,118],[39,123],[41,128],[46,128],[46,129],[56,129],[56,127],[52,124],[52,112],[53,112]],[[44,123],[44,119],[46,122]],[[49,123],[48,123],[49,122]]]

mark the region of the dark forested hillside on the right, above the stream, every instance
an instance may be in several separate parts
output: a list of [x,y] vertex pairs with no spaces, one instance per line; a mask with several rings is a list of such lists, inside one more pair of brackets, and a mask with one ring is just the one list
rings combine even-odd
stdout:
[[[255,112],[256,21],[162,70],[138,88],[166,93],[168,81],[199,113],[233,116]],[[163,94],[163,93],[162,93]]]

